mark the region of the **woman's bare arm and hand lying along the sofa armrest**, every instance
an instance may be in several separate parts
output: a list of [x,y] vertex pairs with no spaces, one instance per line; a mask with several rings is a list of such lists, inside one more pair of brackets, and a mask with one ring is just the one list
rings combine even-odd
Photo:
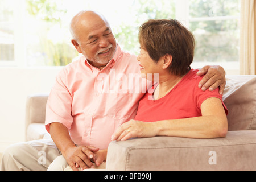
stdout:
[[127,140],[138,137],[186,137],[221,138],[228,131],[228,121],[219,98],[208,98],[201,104],[201,117],[141,122],[131,120],[124,123],[112,135],[112,140]]

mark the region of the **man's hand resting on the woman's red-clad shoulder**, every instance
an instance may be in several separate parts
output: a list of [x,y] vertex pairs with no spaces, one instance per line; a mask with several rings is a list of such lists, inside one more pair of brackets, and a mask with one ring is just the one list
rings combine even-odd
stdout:
[[210,91],[215,90],[220,86],[220,94],[222,95],[224,92],[224,88],[226,85],[226,72],[225,70],[218,66],[205,66],[197,72],[197,75],[202,76],[203,79],[199,82],[199,88],[203,91],[209,88]]

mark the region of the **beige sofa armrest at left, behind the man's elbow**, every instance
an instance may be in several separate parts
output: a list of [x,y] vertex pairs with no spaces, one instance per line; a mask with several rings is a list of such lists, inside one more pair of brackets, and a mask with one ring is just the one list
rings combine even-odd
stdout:
[[31,123],[44,123],[46,119],[46,102],[48,93],[32,94],[26,102],[26,135]]

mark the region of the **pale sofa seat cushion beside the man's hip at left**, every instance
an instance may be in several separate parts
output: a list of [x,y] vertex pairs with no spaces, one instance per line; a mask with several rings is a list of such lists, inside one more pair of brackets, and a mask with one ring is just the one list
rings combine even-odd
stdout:
[[46,131],[43,123],[32,123],[27,128],[27,140],[50,139],[51,135]]

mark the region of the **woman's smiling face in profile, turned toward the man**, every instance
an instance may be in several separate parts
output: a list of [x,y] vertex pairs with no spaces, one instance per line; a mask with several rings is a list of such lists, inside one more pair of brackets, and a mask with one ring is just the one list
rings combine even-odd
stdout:
[[156,76],[155,74],[159,75],[162,70],[159,61],[156,63],[152,60],[148,52],[143,48],[141,48],[137,60],[140,62],[139,66],[141,67],[142,78],[154,81],[154,76]]

